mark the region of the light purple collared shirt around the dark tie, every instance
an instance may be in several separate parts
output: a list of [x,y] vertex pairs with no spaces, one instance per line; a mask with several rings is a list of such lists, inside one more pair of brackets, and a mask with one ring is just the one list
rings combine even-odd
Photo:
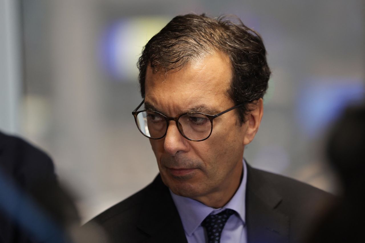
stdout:
[[246,228],[246,183],[247,183],[247,166],[243,160],[243,178],[237,192],[232,199],[224,205],[223,208],[211,208],[201,202],[188,197],[182,197],[174,194],[171,190],[171,196],[176,205],[177,211],[183,223],[185,236],[188,243],[205,243],[207,235],[201,222],[210,214],[217,214],[224,209],[233,209],[235,214],[231,215],[223,228],[220,237],[220,243],[247,243]]

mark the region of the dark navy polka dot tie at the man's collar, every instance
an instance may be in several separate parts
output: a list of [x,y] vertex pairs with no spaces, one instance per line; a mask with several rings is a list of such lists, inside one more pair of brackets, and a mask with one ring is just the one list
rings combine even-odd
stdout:
[[207,243],[219,243],[220,242],[220,235],[222,234],[224,225],[226,224],[227,220],[231,215],[233,215],[235,211],[232,209],[226,209],[220,213],[215,215],[208,215],[201,226],[203,226],[208,235]]

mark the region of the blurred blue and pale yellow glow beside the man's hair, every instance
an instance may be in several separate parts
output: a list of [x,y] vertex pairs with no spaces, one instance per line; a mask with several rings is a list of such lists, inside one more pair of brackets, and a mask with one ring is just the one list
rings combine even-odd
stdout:
[[99,59],[114,81],[137,81],[143,46],[166,25],[166,16],[134,16],[109,23],[101,32]]

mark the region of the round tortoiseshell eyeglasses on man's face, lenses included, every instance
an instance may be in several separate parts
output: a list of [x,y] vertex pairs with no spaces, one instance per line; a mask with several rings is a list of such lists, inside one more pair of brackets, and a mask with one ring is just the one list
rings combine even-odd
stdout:
[[184,138],[196,142],[209,138],[213,131],[214,118],[243,105],[236,105],[216,115],[207,115],[200,112],[187,112],[177,117],[166,117],[157,111],[137,111],[144,102],[145,100],[132,111],[138,130],[143,135],[151,139],[161,139],[167,133],[169,121],[173,120],[176,122],[176,127]]

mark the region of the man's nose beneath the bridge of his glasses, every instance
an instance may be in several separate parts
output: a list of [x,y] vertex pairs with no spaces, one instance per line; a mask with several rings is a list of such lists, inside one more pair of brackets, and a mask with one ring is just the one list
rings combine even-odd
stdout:
[[175,156],[179,151],[189,151],[189,140],[184,138],[183,135],[181,135],[181,133],[177,130],[175,121],[169,122],[170,124],[167,129],[164,141],[165,151],[171,156]]

